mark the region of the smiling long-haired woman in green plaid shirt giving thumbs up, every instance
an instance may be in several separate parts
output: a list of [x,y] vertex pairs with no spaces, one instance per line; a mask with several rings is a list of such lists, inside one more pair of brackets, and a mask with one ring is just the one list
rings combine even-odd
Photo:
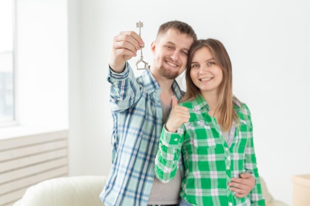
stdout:
[[[160,136],[156,177],[173,179],[182,154],[185,177],[180,206],[264,206],[248,107],[232,94],[231,62],[220,41],[193,43],[187,92],[173,109]],[[231,178],[251,172],[257,184],[246,197],[229,187]],[[235,193],[237,192],[237,193]]]

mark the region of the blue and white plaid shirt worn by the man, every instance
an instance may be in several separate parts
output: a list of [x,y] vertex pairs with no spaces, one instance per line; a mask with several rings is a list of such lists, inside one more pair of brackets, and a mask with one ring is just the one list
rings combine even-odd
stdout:
[[[147,206],[163,125],[161,89],[149,70],[136,79],[128,62],[120,74],[109,70],[107,81],[111,83],[113,151],[100,198],[106,206]],[[184,95],[175,81],[172,90],[177,99]]]

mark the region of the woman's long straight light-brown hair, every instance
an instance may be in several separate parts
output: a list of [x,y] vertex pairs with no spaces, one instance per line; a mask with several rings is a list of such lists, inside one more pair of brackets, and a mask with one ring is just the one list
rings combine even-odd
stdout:
[[198,40],[193,43],[188,54],[187,70],[186,70],[186,85],[187,91],[180,102],[193,100],[200,94],[200,89],[192,81],[191,62],[195,52],[203,47],[210,49],[214,56],[216,64],[218,64],[223,71],[223,80],[218,89],[218,106],[214,111],[214,115],[219,119],[222,129],[227,131],[231,128],[233,120],[237,120],[237,115],[234,112],[233,94],[232,94],[232,67],[228,53],[224,45],[214,39]]

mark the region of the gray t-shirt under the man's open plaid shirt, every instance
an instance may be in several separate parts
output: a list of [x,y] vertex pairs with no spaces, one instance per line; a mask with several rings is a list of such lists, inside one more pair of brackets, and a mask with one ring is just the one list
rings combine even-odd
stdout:
[[[161,102],[161,101],[160,101]],[[161,102],[162,122],[166,123],[172,105],[165,105]],[[174,205],[179,203],[181,189],[181,171],[177,169],[175,177],[168,183],[160,182],[156,177],[150,193],[148,205]]]

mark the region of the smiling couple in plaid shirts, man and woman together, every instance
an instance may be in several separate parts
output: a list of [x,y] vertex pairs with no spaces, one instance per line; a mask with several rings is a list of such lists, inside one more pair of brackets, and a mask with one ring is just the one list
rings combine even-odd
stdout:
[[[143,46],[135,32],[113,40],[112,168],[103,203],[264,206],[250,112],[232,95],[222,43],[197,41],[186,23],[164,23],[151,44],[153,62],[136,79],[127,60]],[[185,68],[186,93],[174,81]]]

